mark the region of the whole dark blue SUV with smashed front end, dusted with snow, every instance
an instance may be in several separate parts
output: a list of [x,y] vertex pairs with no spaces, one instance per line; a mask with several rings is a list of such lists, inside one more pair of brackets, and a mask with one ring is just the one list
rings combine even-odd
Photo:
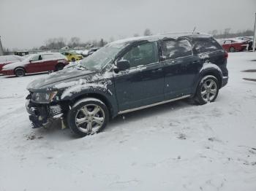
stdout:
[[206,104],[227,84],[227,52],[206,34],[118,40],[77,66],[31,82],[34,128],[61,119],[78,136],[98,133],[118,114],[193,98]]

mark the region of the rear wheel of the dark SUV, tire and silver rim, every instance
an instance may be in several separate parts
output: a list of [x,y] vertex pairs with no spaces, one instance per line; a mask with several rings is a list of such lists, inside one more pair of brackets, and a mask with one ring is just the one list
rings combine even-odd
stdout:
[[218,79],[212,75],[208,75],[201,79],[200,84],[197,86],[197,92],[194,99],[197,104],[203,105],[215,101],[218,93]]

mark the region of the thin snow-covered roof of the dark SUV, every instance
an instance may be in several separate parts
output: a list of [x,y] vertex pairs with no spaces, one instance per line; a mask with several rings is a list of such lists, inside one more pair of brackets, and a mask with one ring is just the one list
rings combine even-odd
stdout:
[[208,34],[200,34],[200,33],[170,33],[170,34],[157,34],[152,36],[138,36],[132,37],[128,39],[121,39],[115,42],[110,42],[110,44],[130,44],[132,42],[140,42],[140,41],[149,41],[154,42],[160,39],[178,39],[178,38],[187,38],[187,39],[205,39],[211,38],[211,35]]

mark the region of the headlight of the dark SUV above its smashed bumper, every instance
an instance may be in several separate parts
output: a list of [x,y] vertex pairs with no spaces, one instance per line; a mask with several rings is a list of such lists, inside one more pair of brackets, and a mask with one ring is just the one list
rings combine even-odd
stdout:
[[53,99],[56,97],[57,91],[52,92],[35,92],[31,96],[31,101],[39,104],[48,104],[53,101]]

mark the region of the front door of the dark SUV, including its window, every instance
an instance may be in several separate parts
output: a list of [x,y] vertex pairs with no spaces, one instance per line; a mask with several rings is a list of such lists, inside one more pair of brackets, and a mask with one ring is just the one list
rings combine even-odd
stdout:
[[157,42],[144,42],[124,53],[126,71],[114,72],[119,111],[154,104],[164,99],[164,73],[159,63]]

